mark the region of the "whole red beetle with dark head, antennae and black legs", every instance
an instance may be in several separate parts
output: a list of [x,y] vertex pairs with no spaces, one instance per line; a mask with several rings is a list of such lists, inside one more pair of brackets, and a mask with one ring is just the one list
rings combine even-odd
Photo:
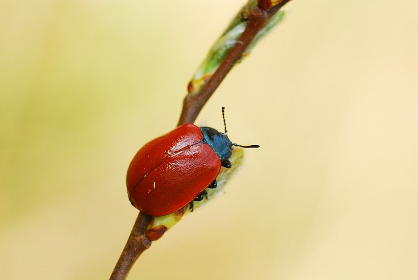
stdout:
[[131,204],[151,216],[164,216],[203,200],[205,189],[216,187],[221,166],[231,167],[232,146],[259,147],[233,144],[226,132],[226,125],[222,133],[185,124],[145,144],[126,175]]

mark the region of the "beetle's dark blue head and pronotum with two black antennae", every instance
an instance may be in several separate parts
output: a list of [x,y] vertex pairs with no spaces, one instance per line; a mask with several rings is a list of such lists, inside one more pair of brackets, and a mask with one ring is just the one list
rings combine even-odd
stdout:
[[229,140],[228,136],[226,135],[226,123],[225,123],[225,114],[224,114],[225,107],[222,107],[222,117],[224,120],[224,127],[225,132],[219,132],[218,130],[212,127],[200,127],[200,131],[203,134],[203,142],[209,144],[210,148],[215,151],[215,153],[219,156],[219,159],[222,161],[227,160],[232,155],[232,146],[238,146],[242,148],[258,148],[258,145],[250,145],[250,146],[241,146],[236,143],[232,143]]

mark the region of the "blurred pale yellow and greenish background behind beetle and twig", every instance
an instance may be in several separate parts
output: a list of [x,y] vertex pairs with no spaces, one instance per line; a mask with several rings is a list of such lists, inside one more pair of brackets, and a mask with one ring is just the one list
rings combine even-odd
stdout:
[[[128,164],[243,3],[0,0],[0,279],[109,278]],[[285,10],[196,122],[261,148],[128,279],[418,279],[418,3]]]

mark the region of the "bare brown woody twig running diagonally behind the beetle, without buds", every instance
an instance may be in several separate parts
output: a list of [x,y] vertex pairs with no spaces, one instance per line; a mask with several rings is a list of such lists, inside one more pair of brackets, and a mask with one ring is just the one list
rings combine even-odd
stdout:
[[[269,19],[290,0],[283,0],[271,7],[271,0],[259,0],[259,5],[252,10],[248,24],[239,37],[238,42],[228,53],[216,72],[202,85],[197,93],[189,93],[184,98],[178,126],[194,123],[203,106],[220,85],[225,76],[242,57],[254,37]],[[125,280],[138,257],[151,246],[151,241],[144,234],[149,223],[150,216],[140,212],[135,225],[129,235],[125,248],[119,257],[118,263],[110,277],[110,280]]]

